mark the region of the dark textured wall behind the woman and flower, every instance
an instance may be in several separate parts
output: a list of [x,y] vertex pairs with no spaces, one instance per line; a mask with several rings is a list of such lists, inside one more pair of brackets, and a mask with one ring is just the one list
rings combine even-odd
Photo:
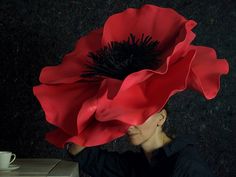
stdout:
[[[0,0],[0,149],[18,157],[58,157],[65,152],[44,141],[51,126],[32,94],[41,68],[56,65],[75,41],[113,13],[152,3],[176,9],[198,22],[194,44],[227,58],[230,73],[217,97],[206,101],[193,91],[171,98],[169,119],[178,134],[194,134],[199,151],[219,177],[235,173],[236,4],[233,0]],[[210,67],[210,66],[209,66]],[[106,146],[124,151],[125,139]]]

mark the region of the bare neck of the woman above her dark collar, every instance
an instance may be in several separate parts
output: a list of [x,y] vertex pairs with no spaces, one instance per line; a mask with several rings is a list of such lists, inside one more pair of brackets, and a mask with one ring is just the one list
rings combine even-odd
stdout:
[[171,142],[171,138],[169,138],[164,132],[156,129],[155,133],[148,140],[141,144],[141,147],[150,162],[152,152],[168,144],[169,142]]

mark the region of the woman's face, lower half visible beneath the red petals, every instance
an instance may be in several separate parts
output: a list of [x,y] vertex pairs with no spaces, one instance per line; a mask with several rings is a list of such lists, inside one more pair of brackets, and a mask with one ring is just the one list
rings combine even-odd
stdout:
[[127,135],[133,145],[141,145],[147,141],[156,131],[158,119],[162,117],[160,113],[150,116],[143,124],[130,126]]

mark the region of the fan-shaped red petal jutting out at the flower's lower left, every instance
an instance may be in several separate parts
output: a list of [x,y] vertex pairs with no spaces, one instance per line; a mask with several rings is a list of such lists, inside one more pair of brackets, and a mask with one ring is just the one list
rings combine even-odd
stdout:
[[33,88],[49,123],[69,135],[77,135],[77,116],[82,104],[96,94],[100,82],[40,85]]

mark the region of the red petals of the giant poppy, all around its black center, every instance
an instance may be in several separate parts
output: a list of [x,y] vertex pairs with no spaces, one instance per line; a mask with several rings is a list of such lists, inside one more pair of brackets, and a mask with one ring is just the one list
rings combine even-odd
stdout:
[[[102,28],[80,38],[61,64],[43,68],[41,85],[33,88],[47,121],[57,127],[47,140],[58,147],[66,142],[107,143],[160,111],[177,92],[193,89],[206,99],[214,98],[229,66],[217,59],[214,49],[190,44],[195,26],[173,9],[147,4],[110,16]],[[81,77],[89,52],[127,40],[130,33],[159,41],[164,62],[158,69],[142,69],[123,80]]]

